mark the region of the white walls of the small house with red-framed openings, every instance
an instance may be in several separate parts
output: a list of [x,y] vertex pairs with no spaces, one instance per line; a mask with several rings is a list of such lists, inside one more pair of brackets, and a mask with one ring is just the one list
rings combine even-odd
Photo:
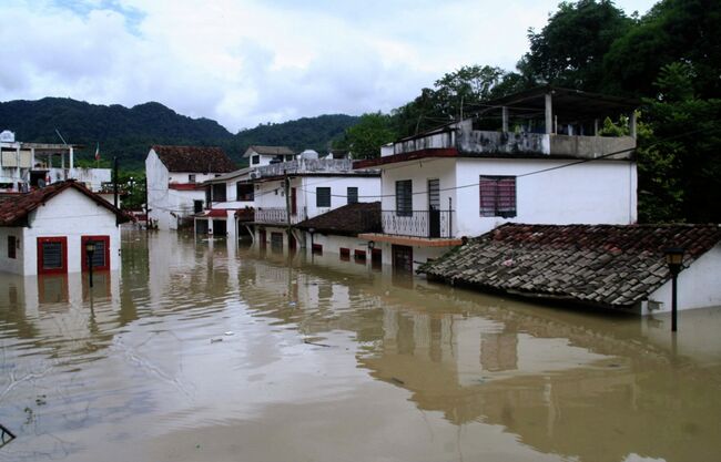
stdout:
[[4,237],[7,254],[7,233],[22,230],[20,249],[22,256],[18,261],[8,264],[7,258],[0,269],[3,271],[37,275],[38,274],[38,237],[65,236],[68,239],[68,273],[82,269],[84,249],[81,236],[109,236],[110,238],[110,269],[120,268],[120,227],[115,225],[115,214],[92,202],[82,193],[72,188],[65,189],[60,195],[51,198],[44,206],[30,214],[28,228],[0,228]]

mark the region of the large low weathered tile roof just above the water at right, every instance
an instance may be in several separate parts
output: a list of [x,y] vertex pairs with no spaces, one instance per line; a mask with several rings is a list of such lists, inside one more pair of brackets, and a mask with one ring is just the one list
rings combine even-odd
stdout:
[[718,225],[507,224],[423,265],[447,281],[631,308],[670,279],[663,250],[690,265],[721,242]]

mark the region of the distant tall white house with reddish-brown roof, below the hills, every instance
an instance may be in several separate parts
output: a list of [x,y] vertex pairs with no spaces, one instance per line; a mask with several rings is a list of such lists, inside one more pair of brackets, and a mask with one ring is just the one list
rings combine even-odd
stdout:
[[145,158],[148,218],[159,229],[193,225],[205,208],[203,182],[235,170],[220,147],[153,146]]

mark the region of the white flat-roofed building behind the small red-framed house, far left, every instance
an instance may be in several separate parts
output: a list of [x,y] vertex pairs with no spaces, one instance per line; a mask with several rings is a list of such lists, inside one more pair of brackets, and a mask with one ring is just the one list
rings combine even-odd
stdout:
[[0,133],[0,193],[28,192],[48,184],[75,179],[98,193],[111,182],[110,168],[75,166],[72,144],[24,143],[14,133]]

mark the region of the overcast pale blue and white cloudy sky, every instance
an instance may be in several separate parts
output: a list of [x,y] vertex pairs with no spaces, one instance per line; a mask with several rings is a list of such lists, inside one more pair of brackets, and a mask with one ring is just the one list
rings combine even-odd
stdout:
[[[653,3],[616,1],[629,14]],[[387,112],[463,65],[512,70],[528,49],[528,28],[542,28],[557,4],[0,0],[0,100],[158,101],[231,132]]]

